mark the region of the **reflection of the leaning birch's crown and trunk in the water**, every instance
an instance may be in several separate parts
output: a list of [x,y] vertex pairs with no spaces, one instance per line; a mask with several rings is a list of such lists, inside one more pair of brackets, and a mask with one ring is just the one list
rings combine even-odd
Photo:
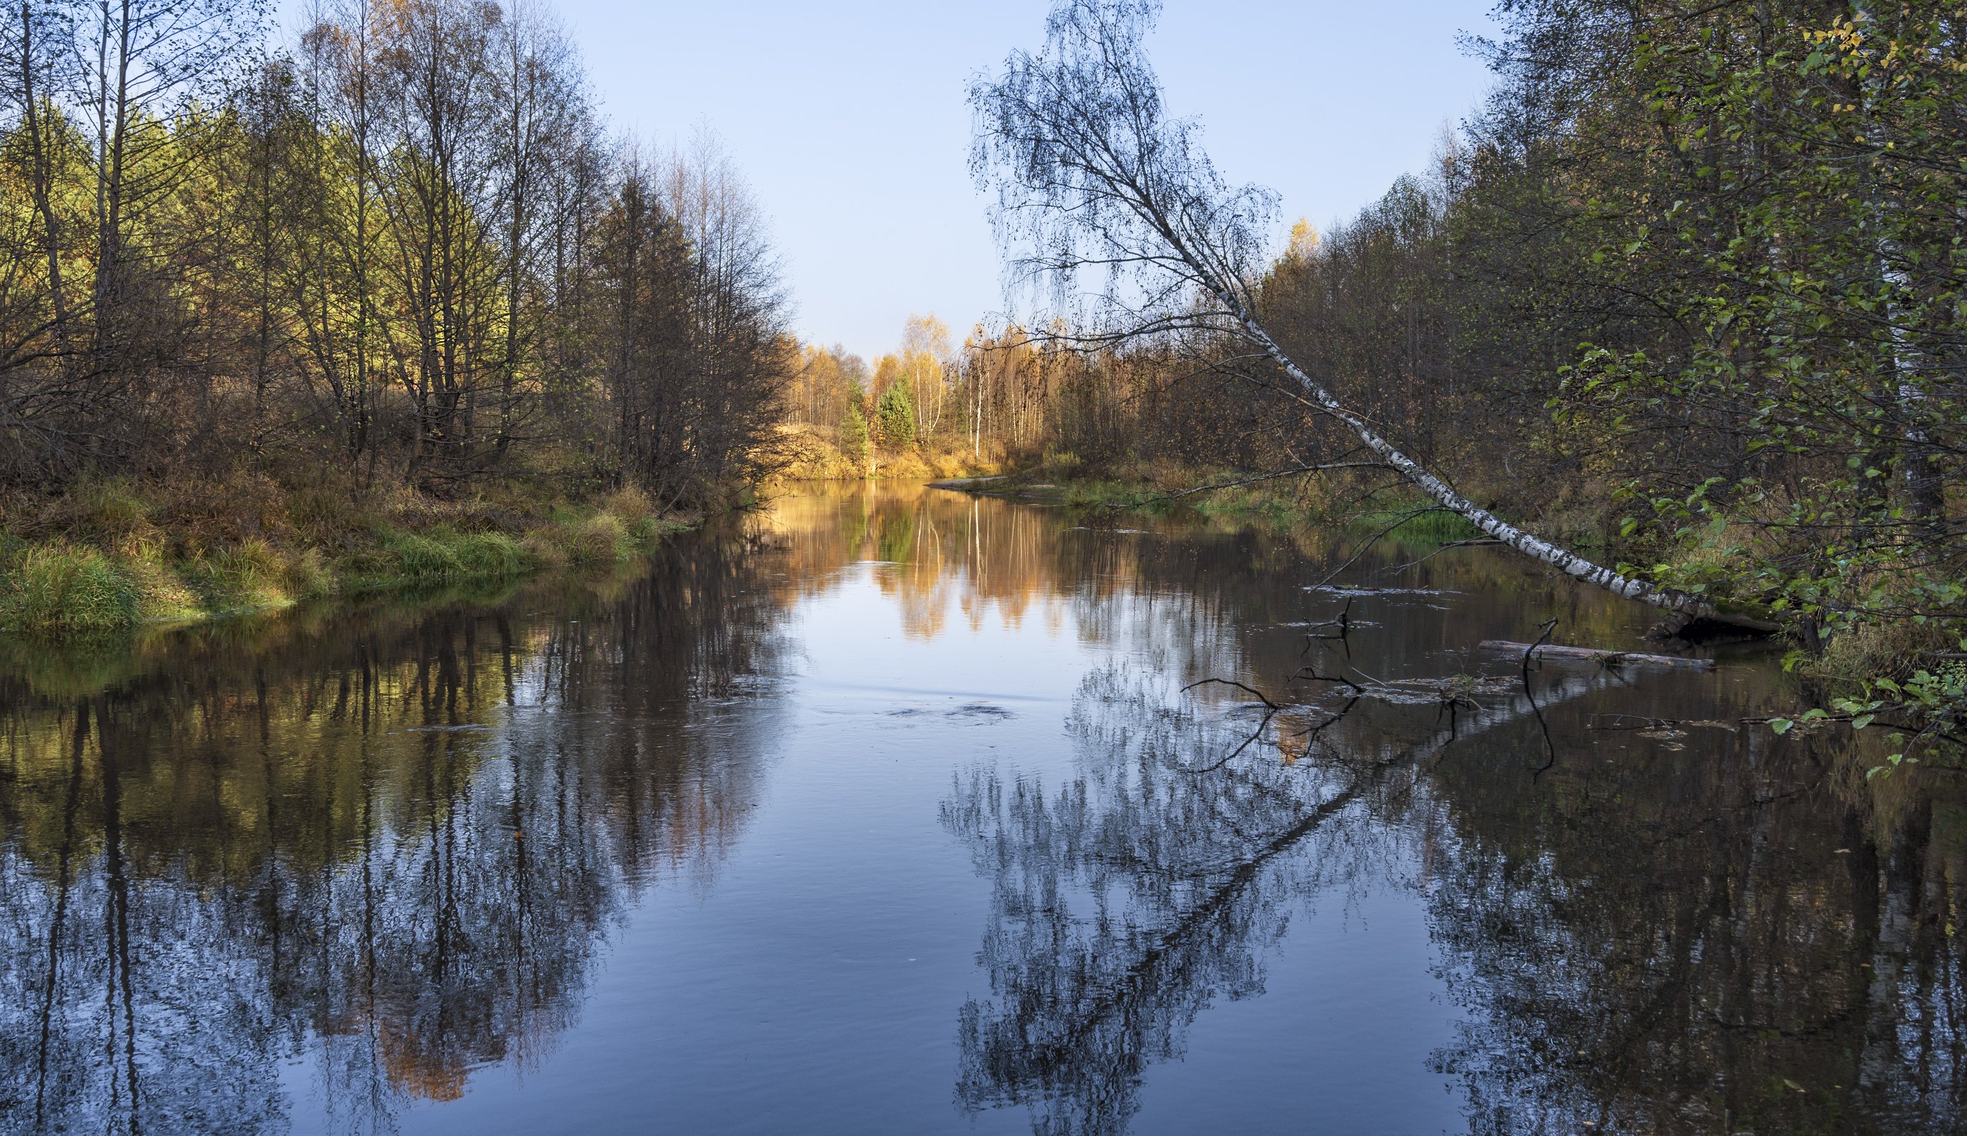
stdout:
[[960,1014],[958,1103],[1025,1105],[1046,1134],[1123,1132],[1149,1063],[1180,1055],[1196,1014],[1263,991],[1292,902],[1404,861],[1399,829],[1359,824],[1367,806],[1412,794],[1452,737],[1526,710],[1501,700],[1357,765],[1292,765],[1269,735],[1223,763],[1253,721],[1133,672],[1090,676],[1072,784],[1046,794],[974,772],[942,810],[993,882],[980,951],[991,1000]]

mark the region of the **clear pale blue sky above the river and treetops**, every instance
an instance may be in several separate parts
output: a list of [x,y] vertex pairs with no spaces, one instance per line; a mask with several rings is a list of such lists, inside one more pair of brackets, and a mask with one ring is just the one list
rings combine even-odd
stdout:
[[[1041,45],[1046,0],[547,2],[618,130],[722,138],[771,218],[805,340],[871,360],[911,312],[960,340],[1005,311],[964,88]],[[1489,29],[1491,4],[1164,0],[1149,51],[1216,167],[1275,189],[1284,226],[1324,230],[1477,106],[1489,77],[1456,39]]]

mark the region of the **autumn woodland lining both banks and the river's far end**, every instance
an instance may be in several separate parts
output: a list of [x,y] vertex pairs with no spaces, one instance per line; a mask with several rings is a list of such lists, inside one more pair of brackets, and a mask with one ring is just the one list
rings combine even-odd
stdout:
[[[1220,179],[1147,71],[1149,126],[1220,191],[1194,199],[1225,210],[1196,222],[1204,246],[1227,240],[1218,283],[1495,515],[1951,698],[1945,658],[1902,664],[1955,649],[1967,613],[1967,18],[1782,0],[1497,14],[1503,33],[1469,43],[1493,96],[1436,163],[1282,252],[1275,199]],[[1133,49],[1153,18],[1070,0],[1046,51],[1066,59],[1072,28]],[[1341,466],[1300,491],[1402,491],[1353,468],[1379,458],[1225,330],[1208,289],[1137,275],[1119,305],[1109,281],[1105,309],[968,330],[917,316],[871,364],[799,346],[730,163],[612,136],[531,4],[346,2],[268,43],[266,12],[224,0],[8,18],[16,515],[104,478],[631,485],[706,505],[783,468],[789,432],[850,470],[901,452]],[[980,90],[974,161],[1001,189],[1005,124]]]

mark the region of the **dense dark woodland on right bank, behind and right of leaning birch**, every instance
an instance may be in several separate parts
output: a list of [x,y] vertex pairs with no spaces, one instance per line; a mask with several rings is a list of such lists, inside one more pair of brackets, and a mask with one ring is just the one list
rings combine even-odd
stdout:
[[[1859,725],[1951,735],[1967,10],[1499,16],[1489,104],[1428,177],[1286,256],[1267,326],[1465,493],[1835,637],[1847,672],[1894,676],[1845,704]],[[1281,436],[1351,444],[1306,428]]]

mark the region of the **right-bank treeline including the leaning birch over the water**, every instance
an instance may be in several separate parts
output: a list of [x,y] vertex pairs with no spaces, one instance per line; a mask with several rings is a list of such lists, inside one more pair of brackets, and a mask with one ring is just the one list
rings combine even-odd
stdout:
[[1662,607],[1831,641],[1886,678],[1845,704],[1859,725],[1953,733],[1957,4],[1507,0],[1471,43],[1493,94],[1434,167],[1282,256],[1261,248],[1275,197],[1225,183],[1164,110],[1155,12],[1064,0],[1043,51],[972,86],[1013,267],[1107,281],[1041,338],[1082,348],[1102,373],[1082,389],[1147,391],[1062,417],[1060,446],[1345,466],[1308,491],[1389,487],[1597,548],[1589,574],[1617,564]]

